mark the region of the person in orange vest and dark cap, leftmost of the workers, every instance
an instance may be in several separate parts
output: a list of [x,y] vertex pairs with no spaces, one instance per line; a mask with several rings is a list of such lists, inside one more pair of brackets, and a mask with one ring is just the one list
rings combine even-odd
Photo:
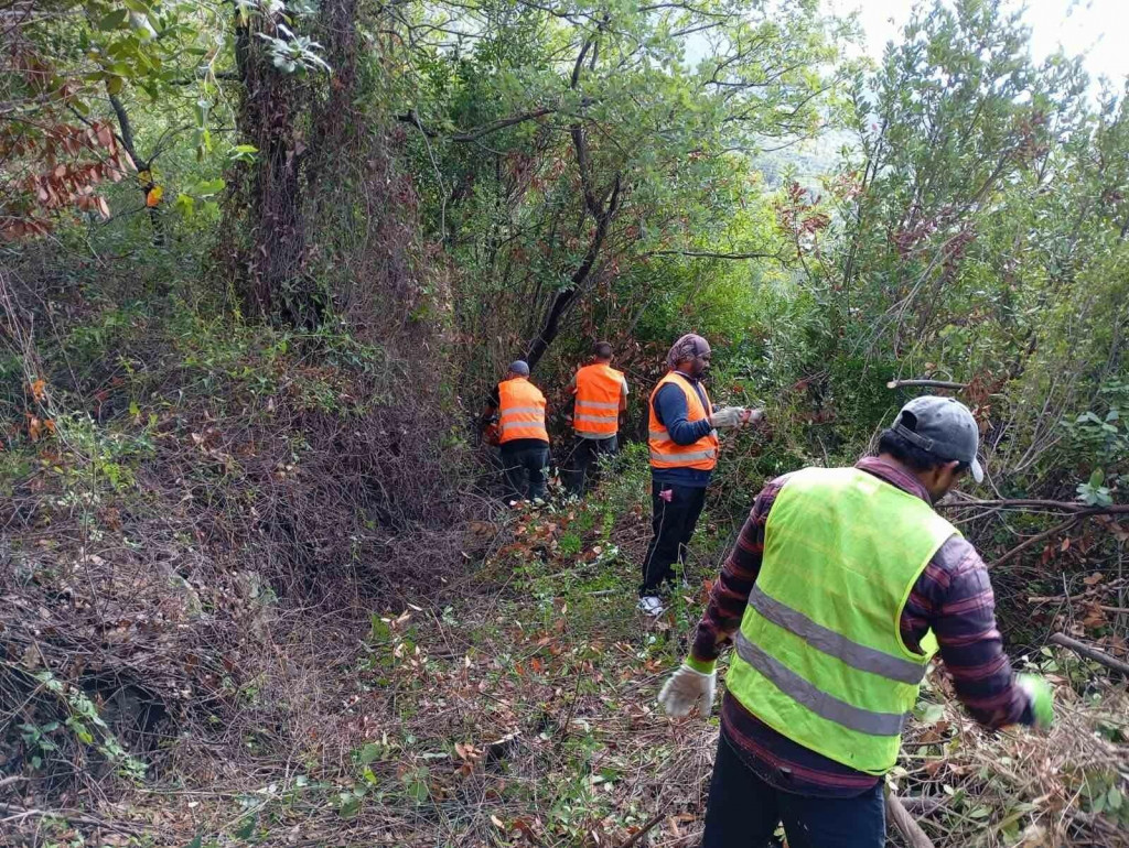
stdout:
[[530,382],[524,360],[510,363],[487,404],[483,424],[495,427],[510,502],[545,495],[549,474],[549,431],[545,396]]

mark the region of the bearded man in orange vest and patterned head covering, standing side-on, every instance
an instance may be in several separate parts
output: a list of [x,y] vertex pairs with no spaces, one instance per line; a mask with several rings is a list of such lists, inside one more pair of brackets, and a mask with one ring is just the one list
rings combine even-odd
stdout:
[[739,406],[715,407],[701,385],[712,352],[701,336],[682,336],[666,354],[667,372],[648,401],[650,502],[654,531],[642,563],[639,609],[663,613],[662,594],[674,581],[706,502],[717,465],[721,427],[742,427],[762,413]]

